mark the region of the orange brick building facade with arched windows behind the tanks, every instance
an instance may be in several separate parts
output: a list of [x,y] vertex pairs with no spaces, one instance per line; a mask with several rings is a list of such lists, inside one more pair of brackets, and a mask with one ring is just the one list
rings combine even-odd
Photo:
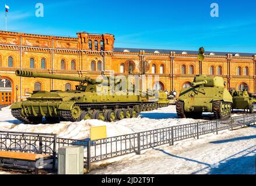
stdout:
[[195,74],[222,76],[227,88],[256,92],[253,53],[114,48],[113,34],[77,33],[76,38],[0,31],[0,104],[26,99],[38,90],[73,90],[77,82],[15,76],[15,70],[96,78],[101,74],[157,76],[153,89],[177,91]]

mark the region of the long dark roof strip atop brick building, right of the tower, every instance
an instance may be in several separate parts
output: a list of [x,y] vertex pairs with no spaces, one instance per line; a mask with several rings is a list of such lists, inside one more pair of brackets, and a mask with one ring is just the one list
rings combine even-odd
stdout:
[[[143,48],[114,48],[114,52],[139,52],[139,51],[145,51],[146,53],[170,53],[170,52],[176,52],[178,54],[182,54],[183,52],[186,52],[188,55],[198,55],[198,51],[181,51],[181,50],[170,50],[170,49],[143,49]],[[220,56],[226,56],[228,53],[231,53],[234,55],[239,56],[246,56],[251,57],[254,56],[255,53],[243,53],[243,52],[215,52],[215,51],[205,51],[205,55],[220,55]]]

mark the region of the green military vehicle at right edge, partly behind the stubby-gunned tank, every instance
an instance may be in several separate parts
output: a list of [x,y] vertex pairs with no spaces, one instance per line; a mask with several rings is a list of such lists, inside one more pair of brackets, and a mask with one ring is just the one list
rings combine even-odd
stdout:
[[230,90],[230,94],[233,97],[232,109],[249,110],[250,113],[256,111],[256,99],[248,94],[248,91]]

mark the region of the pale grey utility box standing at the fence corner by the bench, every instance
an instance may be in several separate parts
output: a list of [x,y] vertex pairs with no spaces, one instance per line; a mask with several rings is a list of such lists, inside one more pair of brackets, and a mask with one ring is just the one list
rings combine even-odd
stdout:
[[83,146],[58,149],[58,174],[83,174]]

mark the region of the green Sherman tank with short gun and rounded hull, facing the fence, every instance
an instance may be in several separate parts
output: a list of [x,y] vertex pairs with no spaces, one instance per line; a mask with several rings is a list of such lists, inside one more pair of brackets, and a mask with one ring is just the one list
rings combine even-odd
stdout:
[[202,112],[213,112],[215,119],[222,119],[232,112],[232,102],[222,77],[197,75],[192,87],[181,90],[176,103],[177,115],[200,118]]

